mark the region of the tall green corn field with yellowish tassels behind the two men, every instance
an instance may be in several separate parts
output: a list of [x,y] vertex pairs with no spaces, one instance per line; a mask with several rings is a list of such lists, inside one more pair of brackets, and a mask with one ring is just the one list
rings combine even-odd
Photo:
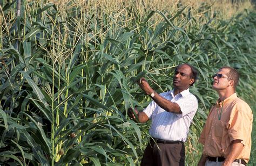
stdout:
[[0,15],[0,165],[139,165],[150,122],[137,124],[127,110],[151,98],[134,80],[171,90],[180,63],[199,71],[186,165],[201,155],[218,68],[239,71],[238,96],[255,114],[250,1],[2,0]]

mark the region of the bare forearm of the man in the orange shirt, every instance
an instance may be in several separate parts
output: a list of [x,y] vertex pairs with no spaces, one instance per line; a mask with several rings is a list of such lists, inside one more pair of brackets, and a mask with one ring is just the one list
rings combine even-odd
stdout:
[[235,158],[237,158],[237,156],[241,153],[243,147],[244,145],[241,143],[241,140],[232,141],[230,154],[227,155],[223,166],[231,165],[231,163],[234,162]]

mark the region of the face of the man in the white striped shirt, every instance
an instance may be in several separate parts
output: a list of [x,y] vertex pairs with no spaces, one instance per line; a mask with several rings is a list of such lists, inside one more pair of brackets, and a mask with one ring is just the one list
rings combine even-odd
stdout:
[[193,82],[194,78],[191,78],[192,72],[191,68],[186,64],[182,64],[179,66],[173,77],[173,86],[176,89],[185,90],[187,89]]

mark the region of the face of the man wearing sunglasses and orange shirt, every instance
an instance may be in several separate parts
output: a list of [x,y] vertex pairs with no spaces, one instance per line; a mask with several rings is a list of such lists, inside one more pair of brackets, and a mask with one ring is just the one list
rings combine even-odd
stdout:
[[[231,79],[228,78],[227,73],[229,72],[228,69],[220,69],[216,74],[221,74],[219,76],[213,77],[212,88],[216,91],[226,89],[230,86]],[[220,77],[221,76],[221,77]]]

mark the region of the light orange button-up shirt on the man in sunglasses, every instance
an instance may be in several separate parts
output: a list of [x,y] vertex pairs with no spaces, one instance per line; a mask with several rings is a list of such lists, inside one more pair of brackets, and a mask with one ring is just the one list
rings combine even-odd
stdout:
[[242,140],[244,147],[237,159],[244,159],[248,163],[252,144],[252,120],[250,106],[239,99],[236,93],[223,102],[217,102],[212,107],[199,138],[199,142],[204,145],[203,154],[227,157],[231,141]]

